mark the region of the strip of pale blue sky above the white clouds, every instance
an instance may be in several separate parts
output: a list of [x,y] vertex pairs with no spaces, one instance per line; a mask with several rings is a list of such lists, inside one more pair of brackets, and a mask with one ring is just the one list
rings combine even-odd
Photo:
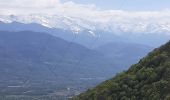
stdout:
[[95,4],[97,7],[101,9],[164,10],[170,8],[170,0],[67,0],[67,1],[73,1],[75,3],[80,4]]

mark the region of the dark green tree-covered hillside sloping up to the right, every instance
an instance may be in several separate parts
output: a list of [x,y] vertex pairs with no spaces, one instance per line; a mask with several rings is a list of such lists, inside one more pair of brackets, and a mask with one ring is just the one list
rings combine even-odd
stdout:
[[170,100],[170,42],[75,100]]

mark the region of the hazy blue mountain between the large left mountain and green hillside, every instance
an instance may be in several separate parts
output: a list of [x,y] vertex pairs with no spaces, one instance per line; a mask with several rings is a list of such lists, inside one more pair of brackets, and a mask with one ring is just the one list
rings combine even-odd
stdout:
[[125,42],[111,42],[101,45],[95,50],[103,53],[120,67],[120,70],[127,69],[130,65],[138,62],[153,49],[153,47]]

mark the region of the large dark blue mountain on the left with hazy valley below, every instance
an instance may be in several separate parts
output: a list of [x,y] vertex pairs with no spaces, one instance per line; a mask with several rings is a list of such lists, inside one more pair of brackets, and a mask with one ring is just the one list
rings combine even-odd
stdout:
[[0,94],[83,90],[114,75],[113,66],[99,52],[47,33],[0,31]]

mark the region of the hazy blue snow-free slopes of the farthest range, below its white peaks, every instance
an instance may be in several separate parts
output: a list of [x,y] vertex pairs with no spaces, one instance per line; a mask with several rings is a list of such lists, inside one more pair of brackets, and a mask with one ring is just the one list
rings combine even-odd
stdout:
[[110,42],[126,42],[133,44],[143,44],[149,45],[151,47],[157,47],[161,44],[168,41],[169,35],[166,34],[134,34],[134,33],[123,33],[119,32],[106,32],[102,30],[82,30],[82,31],[73,31],[63,28],[50,28],[43,26],[37,23],[20,23],[20,22],[11,22],[5,23],[0,22],[0,31],[34,31],[34,32],[45,32],[52,34],[54,36],[63,38],[67,41],[72,41],[81,45],[84,45],[88,48],[98,47]]

